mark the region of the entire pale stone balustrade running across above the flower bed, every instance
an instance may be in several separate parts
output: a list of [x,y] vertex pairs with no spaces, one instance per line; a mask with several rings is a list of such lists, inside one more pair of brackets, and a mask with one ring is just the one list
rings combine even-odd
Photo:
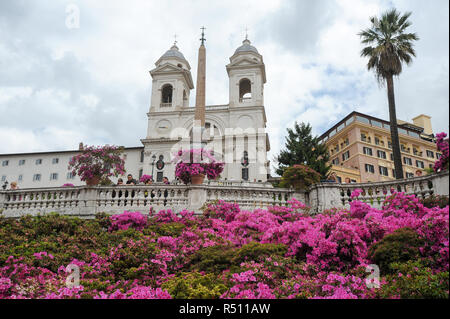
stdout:
[[200,213],[206,203],[215,200],[225,200],[238,204],[241,209],[254,210],[283,206],[296,198],[310,206],[312,213],[317,213],[331,208],[348,208],[355,189],[362,190],[360,200],[379,208],[393,191],[415,194],[421,198],[432,194],[448,196],[449,173],[379,183],[321,183],[314,185],[308,193],[274,188],[270,183],[234,181],[206,182],[196,186],[153,184],[30,188],[1,191],[0,211],[6,217],[57,212],[92,218],[99,212],[118,214],[125,210],[147,214],[151,208],[154,211],[172,209],[174,212],[188,209]]

